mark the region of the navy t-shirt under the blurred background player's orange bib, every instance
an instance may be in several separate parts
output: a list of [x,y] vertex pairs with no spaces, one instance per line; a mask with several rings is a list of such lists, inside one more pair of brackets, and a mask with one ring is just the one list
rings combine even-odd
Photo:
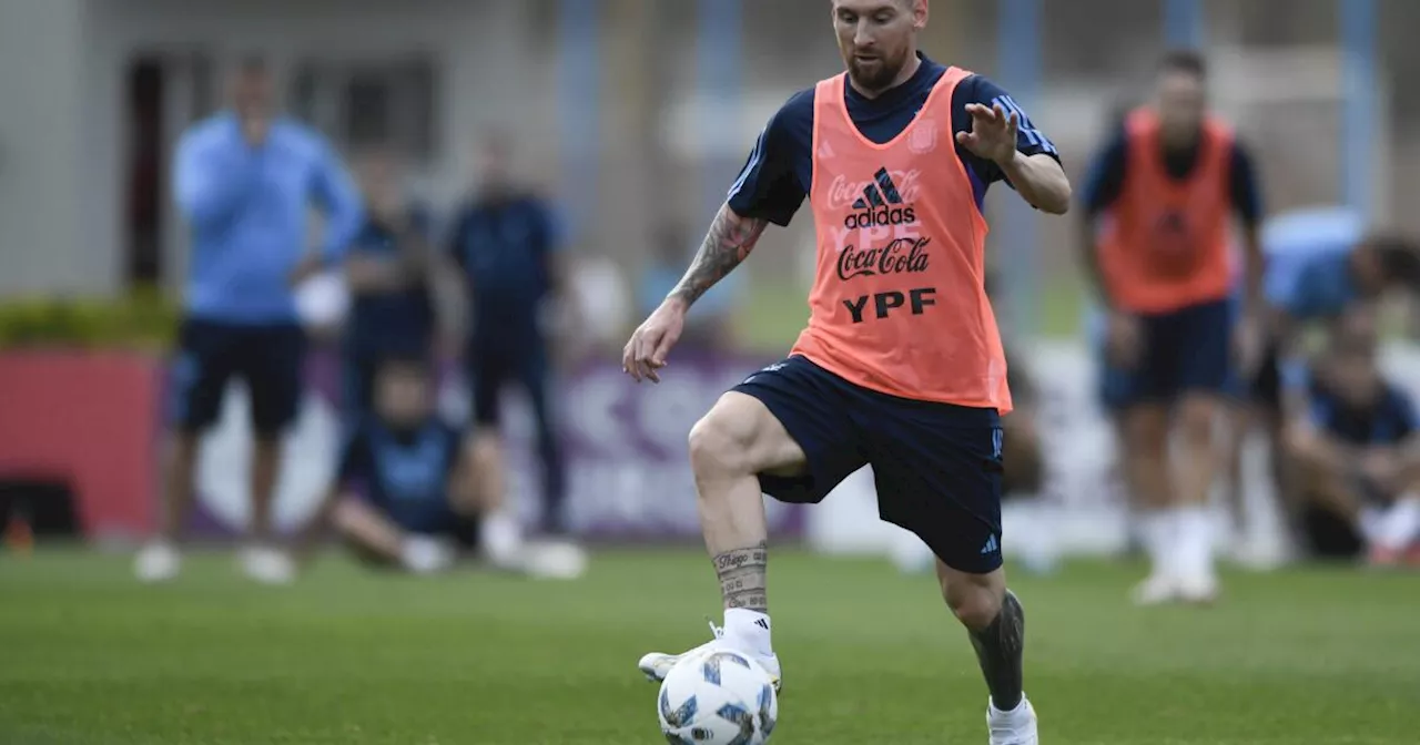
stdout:
[[[1184,180],[1198,163],[1198,145],[1190,148],[1166,149],[1160,153],[1164,170],[1176,180]],[[1257,169],[1252,166],[1252,156],[1237,139],[1233,140],[1233,163],[1228,167],[1228,192],[1233,200],[1233,210],[1248,226],[1257,226],[1262,219],[1262,197],[1257,187]],[[1119,199],[1125,189],[1125,175],[1129,170],[1129,135],[1120,126],[1109,145],[1100,152],[1089,167],[1085,177],[1083,203],[1091,214],[1108,210]]]

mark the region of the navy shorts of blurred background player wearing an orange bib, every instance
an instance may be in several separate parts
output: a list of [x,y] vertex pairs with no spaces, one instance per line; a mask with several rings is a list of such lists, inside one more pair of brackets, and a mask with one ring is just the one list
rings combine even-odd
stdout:
[[1143,336],[1139,363],[1120,368],[1106,358],[1102,368],[1100,393],[1106,407],[1173,403],[1186,393],[1238,393],[1230,299],[1146,314],[1139,321]]

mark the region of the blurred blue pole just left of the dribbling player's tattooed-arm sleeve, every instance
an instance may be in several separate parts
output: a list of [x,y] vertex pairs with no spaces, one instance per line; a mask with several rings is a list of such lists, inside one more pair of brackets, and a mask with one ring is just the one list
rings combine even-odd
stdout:
[[696,87],[700,99],[709,104],[700,111],[699,122],[700,139],[711,150],[700,169],[700,196],[706,210],[701,223],[709,224],[724,203],[726,189],[734,179],[734,169],[738,167],[738,163],[727,160],[738,158],[738,153],[726,155],[726,148],[730,148],[726,135],[740,128],[740,101],[744,91],[744,72],[740,67],[744,18],[741,0],[699,0],[696,14],[699,27]]

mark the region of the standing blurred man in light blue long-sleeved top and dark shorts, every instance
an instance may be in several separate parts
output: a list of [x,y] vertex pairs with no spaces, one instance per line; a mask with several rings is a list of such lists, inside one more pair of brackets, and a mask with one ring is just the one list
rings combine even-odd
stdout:
[[[178,534],[193,497],[200,437],[217,421],[227,383],[251,402],[251,528],[240,553],[260,582],[287,582],[294,568],[271,535],[281,436],[302,396],[305,332],[293,287],[337,264],[359,230],[359,196],[318,133],[280,116],[267,67],[243,61],[226,111],[189,128],[178,143],[173,183],[192,228],[193,253],[178,356],[172,368],[175,444],[166,464],[159,535],[139,555],[143,580],[178,575]],[[307,247],[311,204],[327,217],[317,253]]]

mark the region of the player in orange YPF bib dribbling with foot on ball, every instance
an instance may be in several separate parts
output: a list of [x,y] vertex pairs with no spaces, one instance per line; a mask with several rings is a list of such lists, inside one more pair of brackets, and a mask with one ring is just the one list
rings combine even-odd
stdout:
[[[835,0],[848,67],[774,115],[680,285],[626,343],[659,380],[686,311],[807,197],[818,275],[791,356],[721,396],[690,431],[706,546],[724,600],[710,644],[770,643],[761,492],[818,502],[863,464],[879,514],[937,556],[941,595],[990,688],[994,745],[1038,742],[1021,683],[1024,613],[1001,569],[1005,359],[984,289],[987,186],[1049,213],[1069,207],[1055,148],[997,85],[917,50],[926,0]],[[674,654],[639,667],[659,680]]]

